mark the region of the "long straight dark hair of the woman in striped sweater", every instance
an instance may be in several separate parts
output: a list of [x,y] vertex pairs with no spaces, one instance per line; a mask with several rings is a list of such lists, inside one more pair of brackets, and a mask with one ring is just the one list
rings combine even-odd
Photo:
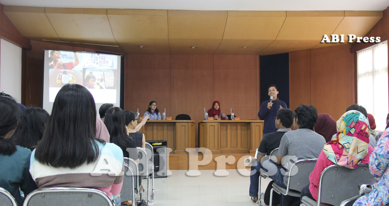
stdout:
[[96,105],[92,94],[79,84],[66,84],[58,91],[35,159],[54,168],[75,168],[96,161]]

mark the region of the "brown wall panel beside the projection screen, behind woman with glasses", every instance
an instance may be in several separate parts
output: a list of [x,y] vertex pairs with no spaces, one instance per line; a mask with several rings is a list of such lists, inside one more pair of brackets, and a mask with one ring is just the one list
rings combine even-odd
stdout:
[[170,111],[170,55],[128,54],[124,69],[124,109],[140,115],[147,110],[150,101],[167,115]]

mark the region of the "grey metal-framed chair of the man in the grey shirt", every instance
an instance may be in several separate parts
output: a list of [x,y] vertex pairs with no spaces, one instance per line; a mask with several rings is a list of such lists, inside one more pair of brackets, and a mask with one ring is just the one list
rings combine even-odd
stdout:
[[309,175],[314,171],[317,159],[301,159],[294,162],[288,169],[286,188],[281,187],[277,183],[273,183],[273,188],[270,190],[270,203],[272,205],[273,191],[280,195],[289,195],[293,197],[300,197],[300,192],[303,187],[309,184]]

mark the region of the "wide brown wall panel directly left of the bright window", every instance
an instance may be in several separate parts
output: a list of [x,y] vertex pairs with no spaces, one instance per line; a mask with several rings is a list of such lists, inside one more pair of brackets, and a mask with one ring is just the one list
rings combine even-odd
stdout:
[[338,119],[355,102],[354,54],[341,45],[311,49],[310,56],[311,104]]

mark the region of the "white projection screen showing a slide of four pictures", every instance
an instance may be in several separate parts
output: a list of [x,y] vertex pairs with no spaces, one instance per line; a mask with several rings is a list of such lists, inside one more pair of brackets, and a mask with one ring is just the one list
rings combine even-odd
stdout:
[[51,109],[66,84],[86,87],[100,103],[119,103],[121,56],[89,52],[45,50],[44,106]]

